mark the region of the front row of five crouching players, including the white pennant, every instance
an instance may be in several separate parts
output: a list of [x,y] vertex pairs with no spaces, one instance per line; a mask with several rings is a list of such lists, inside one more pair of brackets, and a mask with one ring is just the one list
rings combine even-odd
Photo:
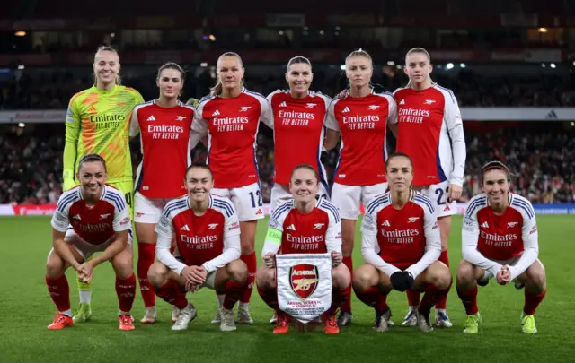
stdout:
[[[342,254],[342,211],[322,193],[318,169],[302,164],[291,171],[291,199],[271,213],[261,251],[263,264],[254,276],[261,298],[275,311],[273,333],[288,333],[296,321],[321,321],[324,333],[339,333],[336,313],[351,290],[375,309],[376,332],[394,325],[386,303],[392,290],[423,292],[413,315],[422,332],[433,331],[431,308],[447,297],[454,279],[439,258],[442,243],[435,204],[411,185],[413,176],[408,155],[397,152],[385,161],[388,191],[365,203],[361,221],[365,263],[350,271]],[[455,281],[466,312],[464,333],[479,332],[478,285],[485,286],[491,278],[524,289],[521,329],[536,333],[535,309],[544,299],[546,282],[544,265],[537,258],[534,209],[526,198],[509,192],[511,174],[503,163],[487,163],[481,177],[483,193],[473,197],[464,213],[463,259]],[[53,248],[46,284],[57,315],[48,328],[77,323],[66,269],[74,268],[78,278],[89,283],[94,268],[110,261],[116,273],[119,329],[133,330],[130,311],[137,282],[132,219],[124,194],[106,184],[106,162],[98,154],[79,160],[76,178],[80,185],[60,196],[51,220]],[[216,290],[220,303],[213,322],[222,331],[234,331],[234,306],[252,285],[248,265],[240,258],[240,219],[229,198],[213,193],[208,166],[190,166],[184,186],[188,193],[165,203],[155,224],[157,261],[149,267],[146,283],[155,296],[173,306],[173,330],[187,329],[197,315],[187,293],[207,287]],[[100,254],[93,256],[96,252]],[[138,276],[142,284],[141,273]],[[155,315],[153,321],[142,323],[154,321]]]

